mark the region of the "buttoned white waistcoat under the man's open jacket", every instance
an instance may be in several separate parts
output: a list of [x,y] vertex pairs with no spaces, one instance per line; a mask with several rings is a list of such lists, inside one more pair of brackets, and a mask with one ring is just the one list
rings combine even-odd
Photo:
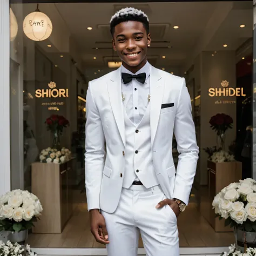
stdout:
[[125,107],[125,173],[123,187],[129,188],[134,180],[140,180],[146,188],[159,184],[154,172],[150,138],[150,103],[138,125],[127,116]]

